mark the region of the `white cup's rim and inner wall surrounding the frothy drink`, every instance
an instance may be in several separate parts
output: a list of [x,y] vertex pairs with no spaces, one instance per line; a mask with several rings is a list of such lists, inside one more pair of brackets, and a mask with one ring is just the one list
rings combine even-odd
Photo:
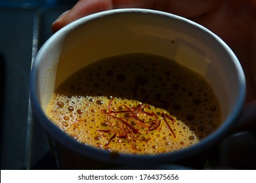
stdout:
[[[120,154],[76,142],[48,120],[54,90],[68,76],[98,59],[148,52],[196,71],[211,84],[221,104],[222,125],[198,144],[156,156]],[[232,128],[244,105],[245,77],[230,48],[211,31],[185,18],[146,9],[118,9],[76,20],[56,32],[39,50],[30,78],[33,113],[56,142],[81,157],[121,165],[175,162],[207,150]]]

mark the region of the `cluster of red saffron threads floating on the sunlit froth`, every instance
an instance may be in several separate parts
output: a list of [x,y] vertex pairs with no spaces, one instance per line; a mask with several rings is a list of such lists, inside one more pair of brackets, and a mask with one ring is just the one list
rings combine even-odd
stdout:
[[[128,107],[125,104],[122,104],[121,110],[111,109],[113,103],[113,98],[110,99],[108,107],[101,110],[101,113],[104,114],[104,120],[109,124],[105,129],[97,129],[98,132],[105,136],[104,133],[113,134],[108,142],[104,146],[108,146],[110,142],[115,139],[127,139],[128,141],[136,142],[138,141],[150,141],[150,137],[146,138],[142,136],[142,129],[146,134],[151,131],[161,130],[161,125],[167,125],[173,137],[176,138],[176,135],[171,128],[175,119],[165,112],[160,114],[155,114],[155,112],[147,112],[145,108],[149,108],[149,105],[144,105],[139,103],[136,107]],[[145,118],[140,118],[140,116],[146,116]],[[141,137],[140,137],[141,136]],[[135,149],[135,148],[134,148]],[[140,150],[140,149],[135,149]]]

